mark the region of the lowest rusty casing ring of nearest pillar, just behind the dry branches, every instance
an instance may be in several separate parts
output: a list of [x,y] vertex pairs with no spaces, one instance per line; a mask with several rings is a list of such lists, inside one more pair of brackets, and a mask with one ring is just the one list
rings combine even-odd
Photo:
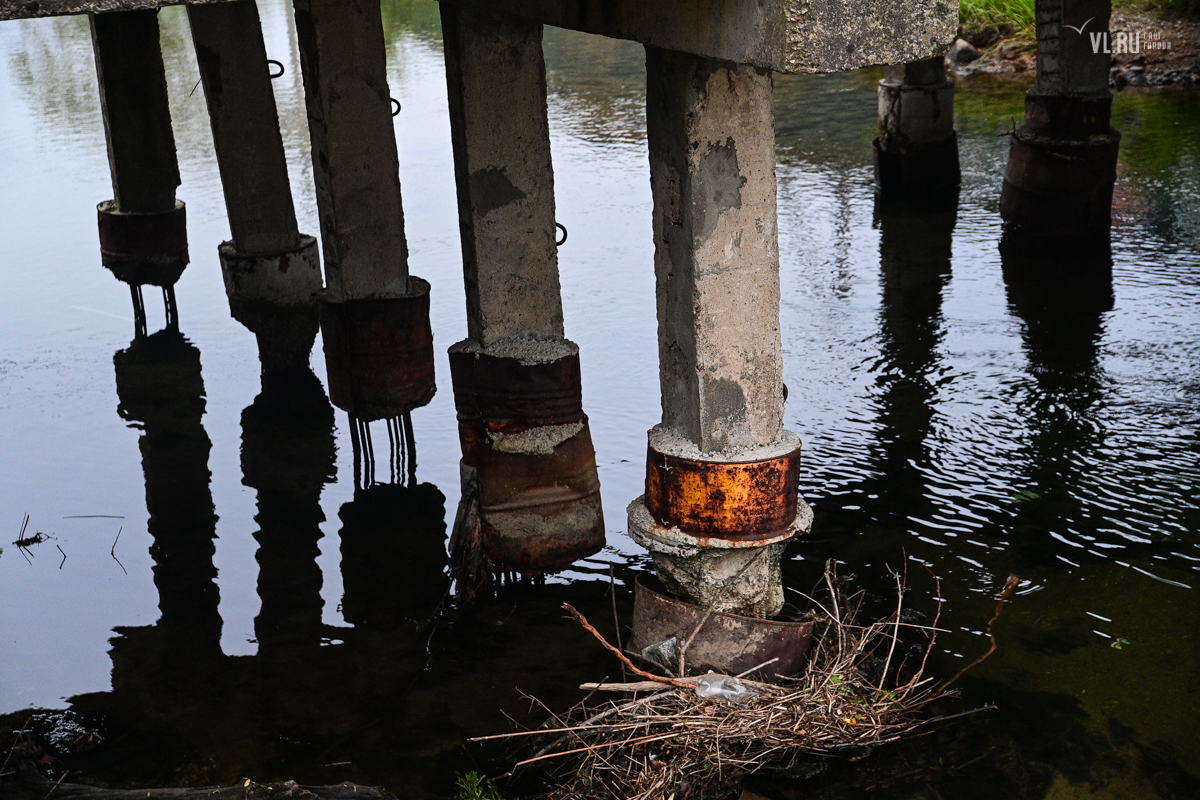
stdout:
[[792,678],[804,672],[812,645],[812,622],[768,620],[724,612],[713,612],[704,621],[703,607],[655,591],[646,583],[646,578],[640,577],[634,584],[630,651],[641,652],[672,637],[678,648],[695,632],[696,638],[685,654],[690,674],[712,669],[737,675],[772,658],[778,661],[749,676],[770,681],[776,675]]

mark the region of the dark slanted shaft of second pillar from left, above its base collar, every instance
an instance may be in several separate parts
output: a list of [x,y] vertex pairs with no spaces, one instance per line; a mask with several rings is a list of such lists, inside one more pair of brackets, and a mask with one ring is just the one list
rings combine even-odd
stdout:
[[283,137],[254,0],[190,6],[229,230],[245,255],[300,243]]

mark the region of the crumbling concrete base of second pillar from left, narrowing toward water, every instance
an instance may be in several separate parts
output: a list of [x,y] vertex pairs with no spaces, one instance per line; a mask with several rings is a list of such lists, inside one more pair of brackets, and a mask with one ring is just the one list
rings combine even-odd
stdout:
[[307,367],[319,321],[317,240],[300,235],[283,253],[239,253],[232,241],[217,248],[229,313],[258,339],[263,369]]

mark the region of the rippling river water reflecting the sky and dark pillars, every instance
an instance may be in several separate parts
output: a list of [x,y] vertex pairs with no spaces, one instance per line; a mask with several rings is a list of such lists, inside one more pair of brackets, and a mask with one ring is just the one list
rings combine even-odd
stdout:
[[[444,351],[466,319],[437,6],[384,6],[410,263]],[[301,230],[317,233],[290,7],[260,12],[287,66],[275,89]],[[229,318],[186,14],[161,20],[192,264],[186,341],[140,343],[100,266],[95,204],[112,190],[86,19],[0,25],[0,714],[98,726],[104,744],[65,762],[72,780],[445,796],[503,756],[466,736],[540,718],[522,692],[564,709],[612,673],[558,606],[607,619],[611,565],[628,612],[644,566],[624,534],[659,419],[641,47],[545,42],[566,329],[610,546],[431,626],[458,486],[445,360],[413,415],[418,485],[356,497],[319,344],[311,383],[264,386]],[[785,578],[808,590],[838,558],[882,590],[908,564],[910,602],[931,612],[929,563],[953,631],[944,674],[985,649],[1007,576],[1022,583],[998,651],[962,681],[966,704],[997,711],[803,790],[1200,796],[1200,97],[1116,97],[1111,264],[1002,260],[1003,133],[1027,85],[960,80],[961,193],[917,209],[870,187],[877,79],[776,79],[787,423],[817,515]],[[25,513],[54,536],[29,553],[10,545]]]

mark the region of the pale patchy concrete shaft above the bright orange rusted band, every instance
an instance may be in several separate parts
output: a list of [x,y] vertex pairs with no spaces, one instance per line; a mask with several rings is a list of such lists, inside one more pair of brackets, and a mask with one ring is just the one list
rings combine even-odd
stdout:
[[662,425],[702,453],[784,425],[770,73],[647,48]]

